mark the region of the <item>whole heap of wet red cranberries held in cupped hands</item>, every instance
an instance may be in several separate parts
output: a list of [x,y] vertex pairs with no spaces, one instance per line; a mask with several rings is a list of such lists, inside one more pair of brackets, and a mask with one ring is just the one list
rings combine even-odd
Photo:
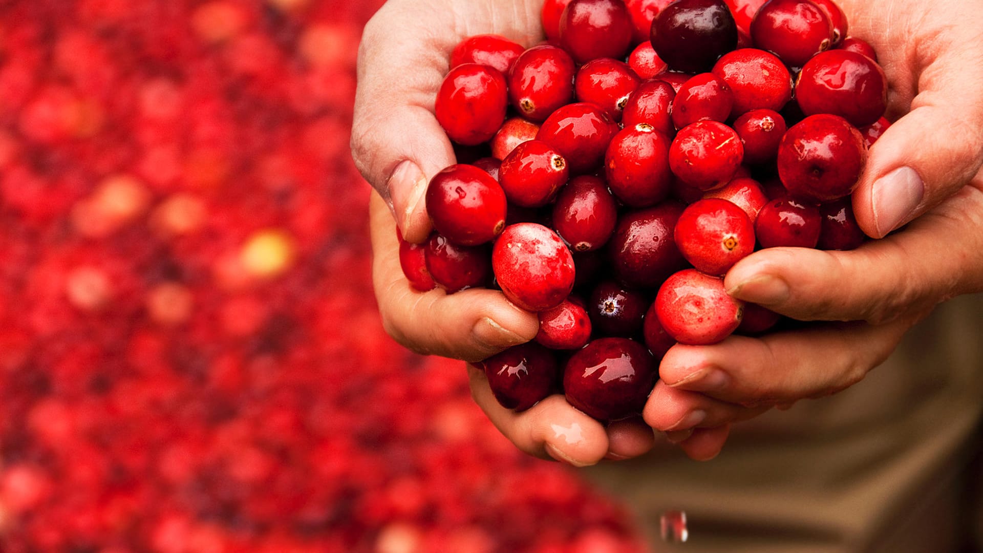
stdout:
[[434,235],[400,261],[420,290],[539,313],[484,362],[502,405],[561,391],[616,420],[674,343],[780,322],[724,290],[755,248],[863,242],[848,197],[887,79],[832,0],[547,0],[543,26],[454,49],[435,112],[471,162],[434,176]]

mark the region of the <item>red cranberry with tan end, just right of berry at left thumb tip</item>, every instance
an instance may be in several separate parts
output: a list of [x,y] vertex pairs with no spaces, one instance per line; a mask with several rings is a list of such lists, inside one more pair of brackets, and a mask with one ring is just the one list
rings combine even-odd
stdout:
[[552,201],[569,176],[562,155],[543,141],[531,140],[502,159],[498,180],[510,203],[542,208]]

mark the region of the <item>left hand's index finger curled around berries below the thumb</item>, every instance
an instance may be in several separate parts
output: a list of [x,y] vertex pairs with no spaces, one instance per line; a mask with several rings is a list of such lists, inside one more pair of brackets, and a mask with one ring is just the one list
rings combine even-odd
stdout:
[[376,193],[370,210],[376,300],[389,336],[418,353],[465,361],[486,359],[536,337],[536,314],[515,307],[500,291],[414,289],[399,266],[395,224]]

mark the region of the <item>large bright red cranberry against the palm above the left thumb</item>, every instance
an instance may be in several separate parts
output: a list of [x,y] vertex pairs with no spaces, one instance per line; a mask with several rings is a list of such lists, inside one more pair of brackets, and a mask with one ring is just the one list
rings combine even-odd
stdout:
[[436,93],[436,120],[458,144],[475,146],[491,140],[505,120],[506,89],[500,71],[476,63],[459,65]]

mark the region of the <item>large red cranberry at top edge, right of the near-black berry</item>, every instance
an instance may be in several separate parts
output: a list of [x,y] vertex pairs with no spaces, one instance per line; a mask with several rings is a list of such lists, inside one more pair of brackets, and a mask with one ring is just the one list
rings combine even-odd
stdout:
[[790,67],[833,44],[833,26],[826,13],[810,0],[769,0],[751,22],[754,47],[774,52]]

